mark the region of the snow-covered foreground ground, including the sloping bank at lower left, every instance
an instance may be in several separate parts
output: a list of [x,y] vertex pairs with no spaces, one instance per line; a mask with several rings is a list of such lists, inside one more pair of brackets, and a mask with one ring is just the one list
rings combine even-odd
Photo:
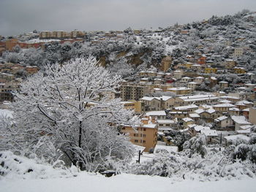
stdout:
[[[53,169],[53,166],[11,152],[1,152],[0,162],[0,192],[256,191],[256,178],[200,182],[135,174],[105,177],[102,174],[78,172],[75,166],[71,169]],[[3,173],[4,176],[1,176]]]

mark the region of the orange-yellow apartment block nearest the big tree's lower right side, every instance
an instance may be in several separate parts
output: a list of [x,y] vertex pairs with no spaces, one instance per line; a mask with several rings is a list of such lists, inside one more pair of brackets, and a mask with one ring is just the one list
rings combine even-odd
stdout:
[[121,132],[129,134],[130,141],[135,145],[145,147],[145,152],[154,149],[157,145],[157,131],[158,126],[154,118],[145,117],[141,119],[141,123],[135,128],[131,126],[124,126]]

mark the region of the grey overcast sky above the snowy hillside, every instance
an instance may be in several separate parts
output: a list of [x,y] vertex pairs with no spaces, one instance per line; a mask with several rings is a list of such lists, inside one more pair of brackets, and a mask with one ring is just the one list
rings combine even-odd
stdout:
[[0,0],[0,35],[33,31],[124,30],[256,11],[255,0]]

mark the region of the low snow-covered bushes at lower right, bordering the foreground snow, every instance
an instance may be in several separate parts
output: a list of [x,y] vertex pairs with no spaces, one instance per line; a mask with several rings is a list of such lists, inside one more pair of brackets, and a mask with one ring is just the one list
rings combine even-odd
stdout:
[[234,161],[227,151],[209,151],[202,158],[187,150],[179,153],[159,153],[155,158],[142,164],[132,164],[133,174],[159,175],[173,180],[225,180],[255,177],[256,166],[251,161]]

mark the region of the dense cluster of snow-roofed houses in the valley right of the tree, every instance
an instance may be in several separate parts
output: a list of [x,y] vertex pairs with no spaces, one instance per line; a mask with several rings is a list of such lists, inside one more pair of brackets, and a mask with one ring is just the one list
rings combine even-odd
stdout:
[[[203,63],[202,60],[198,62]],[[170,63],[171,58],[167,57],[160,72],[138,72],[140,82],[121,82],[121,103],[142,117],[138,128],[122,130],[129,133],[135,145],[150,151],[157,146],[156,133],[170,145],[165,138],[165,131],[170,130],[192,137],[205,134],[209,145],[222,142],[223,146],[236,138],[249,139],[256,125],[256,84],[244,83],[225,93],[229,83],[218,81],[214,72],[195,71],[188,77],[183,69],[167,72]],[[211,88],[219,85],[219,91],[198,93],[197,87],[206,81]]]

